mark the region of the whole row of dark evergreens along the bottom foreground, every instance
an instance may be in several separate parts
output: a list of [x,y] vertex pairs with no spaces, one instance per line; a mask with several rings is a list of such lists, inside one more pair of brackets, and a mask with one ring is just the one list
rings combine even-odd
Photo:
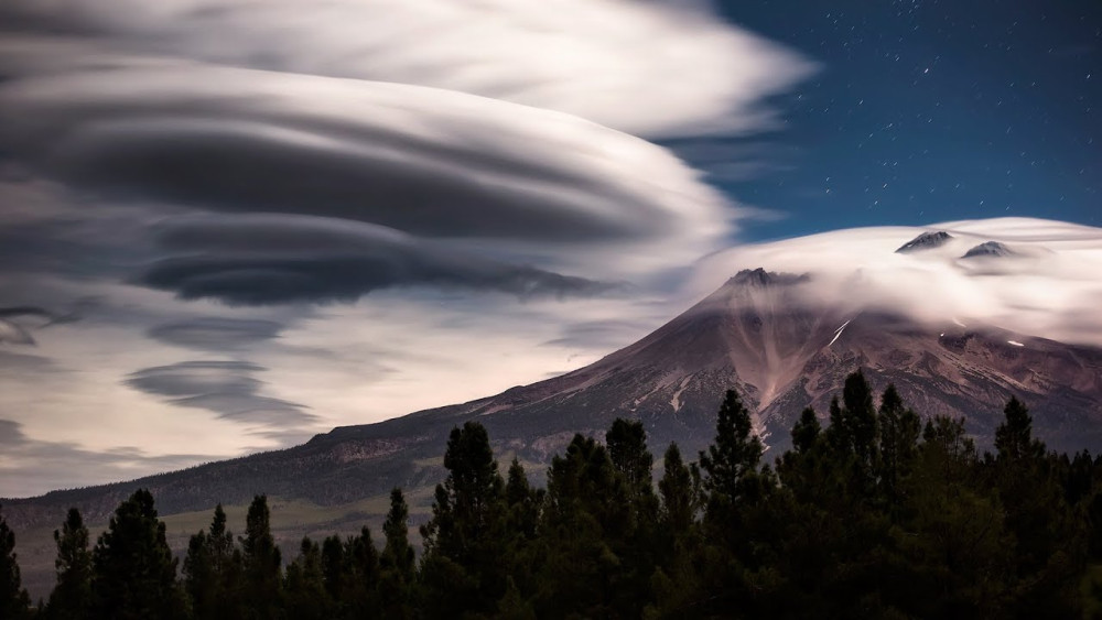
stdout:
[[215,509],[180,567],[153,498],[122,502],[89,550],[80,513],[57,543],[41,609],[20,587],[0,519],[0,618],[1082,618],[1102,613],[1102,459],[1048,453],[1011,400],[995,453],[963,420],[919,416],[889,387],[877,405],[847,378],[823,427],[811,409],[792,449],[763,464],[728,391],[706,450],[665,452],[641,423],[577,435],[533,488],[498,469],[473,422],[447,442],[447,478],[421,527],[390,498],[381,548],[303,539],[284,563],[267,498],[235,539]]

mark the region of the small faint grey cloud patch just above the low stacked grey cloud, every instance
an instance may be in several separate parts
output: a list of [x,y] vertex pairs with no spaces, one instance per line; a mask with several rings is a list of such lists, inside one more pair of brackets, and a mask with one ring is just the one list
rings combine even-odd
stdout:
[[204,316],[151,327],[150,338],[201,351],[231,351],[279,337],[281,323],[253,318]]

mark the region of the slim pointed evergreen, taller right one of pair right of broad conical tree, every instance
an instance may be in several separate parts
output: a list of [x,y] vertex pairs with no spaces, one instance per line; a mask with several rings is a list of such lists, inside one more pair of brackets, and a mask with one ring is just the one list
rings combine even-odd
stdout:
[[242,606],[249,618],[272,618],[281,601],[281,555],[271,533],[268,496],[256,496],[241,539]]

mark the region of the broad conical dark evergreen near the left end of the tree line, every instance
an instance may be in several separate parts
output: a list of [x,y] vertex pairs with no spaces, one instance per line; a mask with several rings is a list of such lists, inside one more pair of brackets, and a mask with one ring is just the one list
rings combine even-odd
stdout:
[[184,614],[176,559],[148,490],[134,491],[115,510],[107,531],[96,543],[91,562],[94,616],[138,620]]

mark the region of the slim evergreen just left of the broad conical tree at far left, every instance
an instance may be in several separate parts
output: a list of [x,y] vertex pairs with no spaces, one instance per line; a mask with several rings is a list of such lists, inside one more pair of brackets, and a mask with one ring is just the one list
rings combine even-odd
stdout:
[[91,611],[91,552],[88,529],[80,511],[71,508],[61,530],[54,530],[57,544],[57,583],[50,594],[48,617],[57,620],[87,618]]

